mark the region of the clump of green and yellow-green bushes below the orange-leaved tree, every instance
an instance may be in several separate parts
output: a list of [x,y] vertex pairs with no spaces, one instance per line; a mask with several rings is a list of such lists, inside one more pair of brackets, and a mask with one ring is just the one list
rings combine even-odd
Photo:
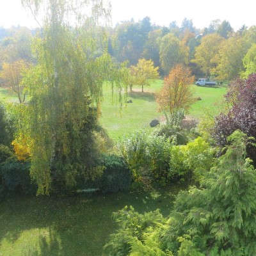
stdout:
[[134,180],[150,179],[161,185],[175,180],[184,180],[187,184],[199,182],[212,166],[214,151],[200,137],[187,145],[176,145],[182,141],[178,127],[168,129],[168,136],[162,133],[163,127],[168,125],[152,134],[137,131],[119,141],[118,152],[131,168]]

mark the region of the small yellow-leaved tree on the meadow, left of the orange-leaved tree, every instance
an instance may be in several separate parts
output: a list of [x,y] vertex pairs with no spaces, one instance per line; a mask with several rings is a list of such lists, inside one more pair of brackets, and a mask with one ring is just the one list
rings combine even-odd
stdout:
[[142,87],[149,86],[155,79],[159,78],[159,67],[154,67],[152,60],[140,59],[136,66],[131,66],[132,83]]

